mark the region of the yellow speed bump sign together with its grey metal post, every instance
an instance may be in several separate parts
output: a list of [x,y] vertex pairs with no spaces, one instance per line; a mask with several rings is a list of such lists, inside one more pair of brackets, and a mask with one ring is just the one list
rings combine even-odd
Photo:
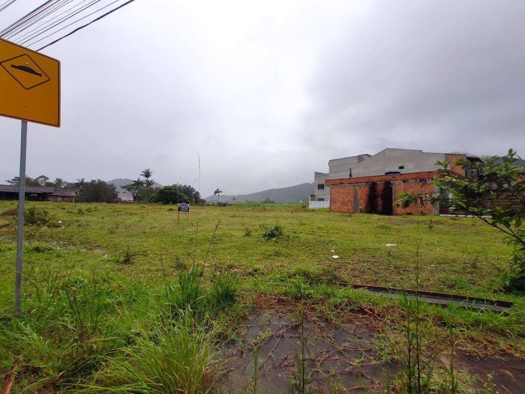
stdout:
[[22,304],[27,122],[60,127],[60,62],[0,38],[0,92],[0,116],[22,120],[15,268],[17,315]]

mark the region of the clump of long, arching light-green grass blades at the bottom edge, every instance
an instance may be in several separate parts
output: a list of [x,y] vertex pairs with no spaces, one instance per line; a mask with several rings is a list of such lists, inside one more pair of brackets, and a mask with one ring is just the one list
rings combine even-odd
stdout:
[[134,345],[122,348],[122,355],[96,377],[99,384],[83,385],[83,391],[209,392],[215,381],[216,334],[213,324],[197,324],[184,312],[150,337],[135,337]]

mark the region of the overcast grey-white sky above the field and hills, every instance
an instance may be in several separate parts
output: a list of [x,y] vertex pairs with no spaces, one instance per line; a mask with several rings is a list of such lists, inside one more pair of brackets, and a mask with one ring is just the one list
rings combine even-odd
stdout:
[[[61,61],[61,127],[29,124],[27,174],[193,184],[200,154],[208,196],[386,147],[525,156],[524,21],[522,0],[137,0],[43,51]],[[19,129],[0,118],[1,182]]]

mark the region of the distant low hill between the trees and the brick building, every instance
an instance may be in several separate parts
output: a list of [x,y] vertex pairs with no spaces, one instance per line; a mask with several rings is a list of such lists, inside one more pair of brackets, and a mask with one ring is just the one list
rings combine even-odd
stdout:
[[[265,199],[270,199],[280,204],[286,203],[299,203],[299,202],[308,202],[310,194],[313,193],[313,183],[301,183],[300,185],[289,186],[288,188],[280,189],[269,189],[262,192],[250,193],[250,194],[220,194],[220,202],[245,202],[246,200],[251,202],[260,202]],[[209,196],[206,198],[206,201],[212,202],[217,201],[215,196]],[[233,199],[236,199],[235,201]]]

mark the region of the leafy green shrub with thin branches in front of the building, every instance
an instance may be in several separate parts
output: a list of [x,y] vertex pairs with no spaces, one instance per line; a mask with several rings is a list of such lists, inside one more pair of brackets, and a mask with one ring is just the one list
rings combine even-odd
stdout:
[[425,201],[446,204],[505,233],[514,250],[511,272],[507,273],[503,287],[513,293],[525,293],[525,176],[523,168],[515,165],[519,159],[513,149],[501,159],[497,156],[482,161],[456,159],[456,167],[463,167],[467,176],[458,174],[449,159],[438,161],[436,164],[442,168],[436,170],[434,177],[436,195],[399,193],[396,201],[403,208]]

